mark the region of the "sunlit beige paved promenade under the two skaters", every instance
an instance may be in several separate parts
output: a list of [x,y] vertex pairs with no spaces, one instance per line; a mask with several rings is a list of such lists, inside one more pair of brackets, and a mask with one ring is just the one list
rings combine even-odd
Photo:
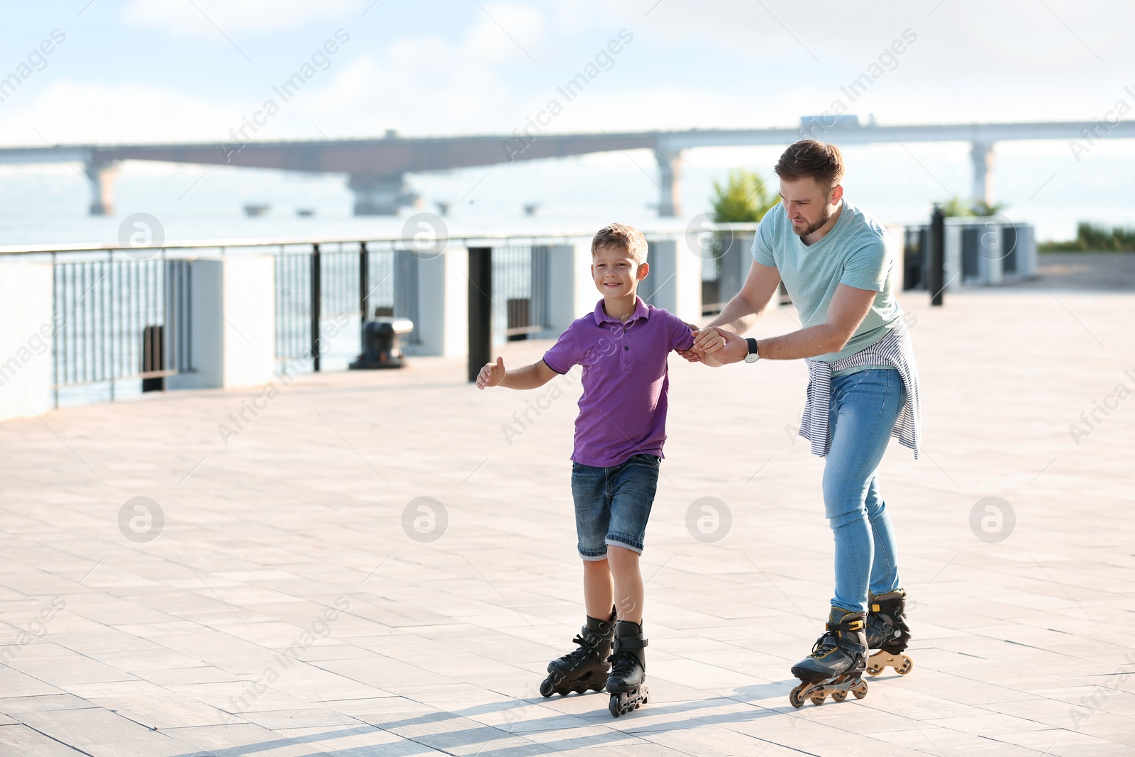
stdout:
[[925,300],[927,454],[882,465],[915,667],[861,701],[788,704],[832,583],[801,363],[671,360],[614,720],[536,690],[582,622],[578,382],[422,359],[0,424],[0,755],[1135,754],[1135,295]]

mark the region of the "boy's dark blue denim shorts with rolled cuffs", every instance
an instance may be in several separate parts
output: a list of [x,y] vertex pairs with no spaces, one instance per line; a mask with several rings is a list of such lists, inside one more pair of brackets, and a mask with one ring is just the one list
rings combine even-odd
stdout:
[[656,455],[632,455],[611,468],[571,466],[579,556],[606,560],[607,545],[642,554],[646,522],[658,487]]

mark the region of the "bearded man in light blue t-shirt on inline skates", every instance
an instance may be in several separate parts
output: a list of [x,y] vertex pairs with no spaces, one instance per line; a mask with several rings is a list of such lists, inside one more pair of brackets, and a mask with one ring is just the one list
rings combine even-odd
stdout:
[[[849,691],[866,696],[868,649],[882,650],[871,658],[872,674],[885,665],[899,673],[911,667],[902,654],[910,640],[906,591],[876,469],[891,436],[918,457],[918,378],[894,300],[886,230],[843,199],[839,148],[802,140],[784,151],[775,173],[781,203],[760,221],[743,288],[682,354],[692,362],[699,353],[721,363],[808,362],[800,436],[826,457],[823,496],[835,540],[835,595],[824,634],[792,666],[801,683],[790,701],[800,707],[827,695],[840,701]],[[741,338],[782,280],[801,328]]]

